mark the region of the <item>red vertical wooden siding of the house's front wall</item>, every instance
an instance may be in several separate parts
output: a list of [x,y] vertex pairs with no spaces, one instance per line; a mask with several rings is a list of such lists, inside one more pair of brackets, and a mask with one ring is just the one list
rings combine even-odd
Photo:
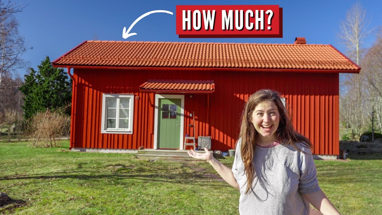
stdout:
[[[210,135],[213,150],[234,147],[244,101],[255,91],[270,88],[285,96],[293,125],[312,141],[314,154],[339,152],[338,73],[74,69],[73,77],[71,147],[153,148],[155,95],[139,92],[139,85],[149,79],[179,79],[214,80],[215,92],[209,96],[185,95],[184,121],[184,134],[194,135],[188,126],[194,111],[196,137]],[[133,134],[101,134],[102,93],[139,96],[134,101]]]

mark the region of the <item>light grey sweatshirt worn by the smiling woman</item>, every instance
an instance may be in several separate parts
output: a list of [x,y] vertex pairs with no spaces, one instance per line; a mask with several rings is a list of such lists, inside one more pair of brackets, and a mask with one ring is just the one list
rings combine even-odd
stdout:
[[300,143],[296,146],[305,153],[292,145],[280,144],[272,148],[256,146],[253,190],[244,194],[247,177],[239,141],[232,172],[240,186],[241,215],[309,215],[309,202],[302,194],[319,191],[320,187],[310,148]]

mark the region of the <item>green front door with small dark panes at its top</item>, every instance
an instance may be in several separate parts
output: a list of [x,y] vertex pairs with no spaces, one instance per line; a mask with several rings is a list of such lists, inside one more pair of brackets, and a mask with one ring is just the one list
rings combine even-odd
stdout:
[[180,147],[181,99],[159,99],[158,148]]

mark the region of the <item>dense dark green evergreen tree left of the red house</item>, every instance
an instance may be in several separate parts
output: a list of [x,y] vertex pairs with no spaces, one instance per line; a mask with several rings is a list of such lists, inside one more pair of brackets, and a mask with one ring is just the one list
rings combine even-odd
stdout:
[[25,95],[24,116],[32,117],[36,112],[61,110],[70,114],[71,80],[62,68],[53,68],[49,57],[41,61],[38,71],[31,68],[24,75],[24,85],[19,90]]

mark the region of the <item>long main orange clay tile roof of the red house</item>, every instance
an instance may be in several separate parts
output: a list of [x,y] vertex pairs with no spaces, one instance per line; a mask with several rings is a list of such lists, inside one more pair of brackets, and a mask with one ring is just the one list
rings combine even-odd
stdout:
[[360,70],[331,45],[131,41],[85,41],[53,66]]

